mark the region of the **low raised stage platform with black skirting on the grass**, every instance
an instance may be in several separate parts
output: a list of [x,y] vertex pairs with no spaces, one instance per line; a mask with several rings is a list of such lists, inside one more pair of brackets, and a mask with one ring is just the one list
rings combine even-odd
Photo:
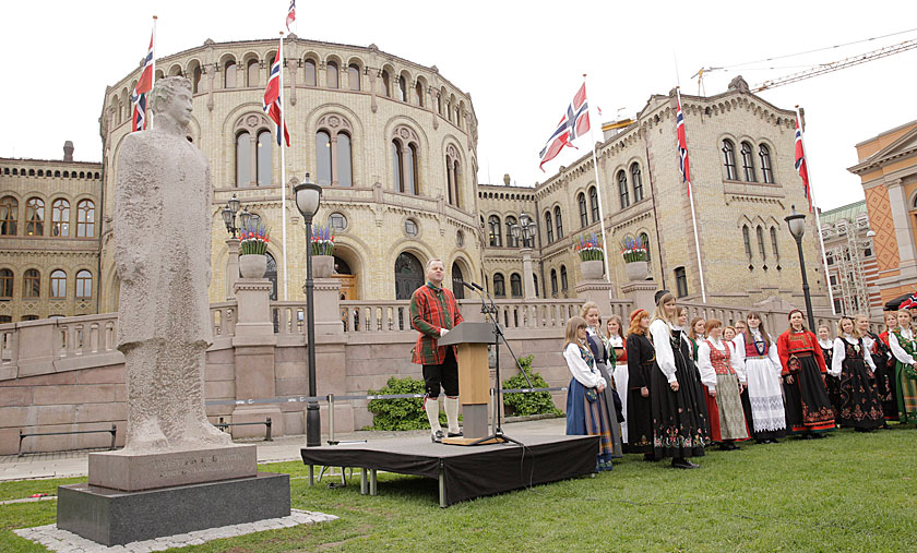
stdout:
[[[376,495],[376,472],[439,480],[440,507],[595,472],[598,436],[512,436],[513,443],[476,446],[434,444],[429,437],[303,447],[302,462],[361,469],[362,494]],[[369,482],[367,482],[369,473]]]

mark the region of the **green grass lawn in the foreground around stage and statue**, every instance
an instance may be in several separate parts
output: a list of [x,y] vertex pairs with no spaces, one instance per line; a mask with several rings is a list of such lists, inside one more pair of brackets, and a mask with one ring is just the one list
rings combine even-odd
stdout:
[[[186,550],[917,551],[917,430],[910,426],[710,450],[698,462],[699,470],[675,470],[631,455],[596,478],[446,509],[438,507],[434,480],[380,474],[379,495],[370,497],[360,495],[358,478],[346,488],[310,489],[301,464],[264,465],[261,470],[290,474],[295,508],[341,519]],[[0,484],[0,500],[72,481]],[[43,551],[10,530],[51,524],[56,507],[55,501],[0,507],[0,551]]]

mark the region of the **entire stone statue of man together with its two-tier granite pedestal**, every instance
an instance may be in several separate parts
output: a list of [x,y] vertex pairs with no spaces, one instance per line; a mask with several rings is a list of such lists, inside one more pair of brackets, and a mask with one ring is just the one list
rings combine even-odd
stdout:
[[88,482],[58,488],[58,528],[105,545],[290,513],[289,476],[258,472],[257,446],[206,418],[210,168],[186,140],[191,83],[157,81],[151,105],[155,125],[124,139],[115,188],[124,448],[90,454]]

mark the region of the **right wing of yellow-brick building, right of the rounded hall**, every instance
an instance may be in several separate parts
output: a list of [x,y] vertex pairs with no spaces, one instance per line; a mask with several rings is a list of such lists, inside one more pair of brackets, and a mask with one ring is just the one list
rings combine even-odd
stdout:
[[[716,96],[682,96],[682,106],[707,302],[750,306],[776,297],[801,305],[796,243],[784,223],[793,205],[800,211],[807,205],[794,166],[795,112],[751,94],[741,79]],[[571,296],[581,280],[573,241],[583,233],[600,235],[600,200],[612,293],[620,297],[629,282],[619,244],[642,236],[650,244],[650,278],[678,297],[699,300],[701,277],[677,163],[675,113],[674,92],[654,95],[633,122],[597,144],[600,188],[591,153],[534,189],[478,187],[491,290],[515,296],[511,279],[522,264],[517,247],[505,239],[507,221],[524,211],[538,223],[533,259],[539,293]],[[815,306],[830,309],[815,231],[814,217],[808,217],[802,244],[808,279]]]

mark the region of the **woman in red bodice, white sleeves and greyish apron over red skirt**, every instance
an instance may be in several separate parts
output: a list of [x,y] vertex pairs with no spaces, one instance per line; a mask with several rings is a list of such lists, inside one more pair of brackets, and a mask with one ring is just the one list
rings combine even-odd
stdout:
[[739,397],[746,375],[733,349],[722,339],[722,326],[723,323],[715,318],[706,322],[707,338],[698,350],[698,365],[707,388],[711,438],[719,443],[720,449],[730,452],[739,448],[735,441],[748,440],[748,425]]

